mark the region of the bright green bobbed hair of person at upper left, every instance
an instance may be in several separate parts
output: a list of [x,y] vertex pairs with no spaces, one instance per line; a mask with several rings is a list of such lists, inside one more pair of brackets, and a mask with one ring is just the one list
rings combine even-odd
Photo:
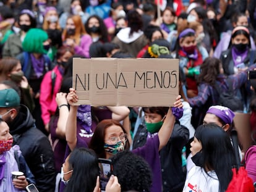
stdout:
[[48,40],[48,35],[44,30],[39,28],[30,29],[22,43],[23,51],[46,54],[47,51],[43,49],[43,42]]

